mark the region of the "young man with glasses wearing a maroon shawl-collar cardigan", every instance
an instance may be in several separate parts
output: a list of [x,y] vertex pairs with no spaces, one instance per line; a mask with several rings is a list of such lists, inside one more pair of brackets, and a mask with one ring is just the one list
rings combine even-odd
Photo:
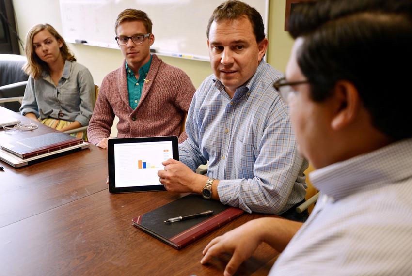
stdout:
[[155,36],[143,11],[121,12],[115,32],[125,61],[103,79],[87,130],[89,141],[107,148],[114,116],[119,117],[117,137],[177,135],[184,141],[181,124],[195,92],[190,78],[150,54]]

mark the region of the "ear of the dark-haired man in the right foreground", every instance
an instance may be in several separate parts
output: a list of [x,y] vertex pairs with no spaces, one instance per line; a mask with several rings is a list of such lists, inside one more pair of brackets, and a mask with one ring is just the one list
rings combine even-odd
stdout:
[[331,121],[331,127],[333,130],[340,130],[357,120],[362,100],[357,88],[349,81],[338,81],[333,90],[335,115]]

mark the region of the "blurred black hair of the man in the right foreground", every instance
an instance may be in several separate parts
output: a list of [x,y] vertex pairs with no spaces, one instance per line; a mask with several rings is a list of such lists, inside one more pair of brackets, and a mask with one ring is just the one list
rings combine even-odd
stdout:
[[411,70],[404,69],[412,64],[411,0],[319,0],[294,9],[288,26],[304,39],[297,63],[312,100],[350,81],[376,129],[394,140],[412,137]]

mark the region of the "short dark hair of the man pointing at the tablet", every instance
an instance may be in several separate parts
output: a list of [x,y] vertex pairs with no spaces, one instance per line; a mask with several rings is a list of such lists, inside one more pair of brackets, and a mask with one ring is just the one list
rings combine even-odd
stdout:
[[242,16],[247,17],[251,22],[256,42],[261,42],[265,38],[265,26],[263,25],[262,16],[255,8],[237,0],[226,1],[213,11],[207,24],[206,37],[209,38],[210,25],[213,21],[233,20]]

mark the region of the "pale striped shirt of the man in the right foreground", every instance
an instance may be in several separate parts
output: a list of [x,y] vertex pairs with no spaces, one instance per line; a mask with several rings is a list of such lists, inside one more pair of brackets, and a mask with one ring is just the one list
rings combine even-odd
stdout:
[[412,139],[309,176],[321,195],[270,275],[412,275]]

